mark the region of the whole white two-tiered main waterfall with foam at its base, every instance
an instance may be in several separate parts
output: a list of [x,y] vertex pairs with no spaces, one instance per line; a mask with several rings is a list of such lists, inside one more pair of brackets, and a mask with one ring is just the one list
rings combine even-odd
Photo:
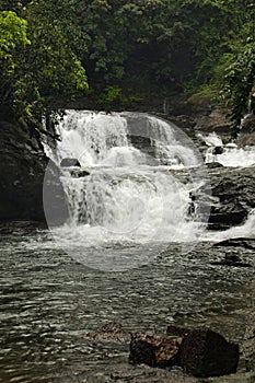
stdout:
[[70,219],[53,232],[79,262],[123,269],[154,259],[159,244],[198,239],[206,213],[189,194],[206,173],[175,126],[143,114],[67,111],[59,135],[50,156],[77,158],[81,167],[62,169]]

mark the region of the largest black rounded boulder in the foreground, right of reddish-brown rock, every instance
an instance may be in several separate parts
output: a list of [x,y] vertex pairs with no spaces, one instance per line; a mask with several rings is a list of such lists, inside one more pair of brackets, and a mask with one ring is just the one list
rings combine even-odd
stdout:
[[181,365],[197,378],[235,373],[239,363],[239,346],[207,328],[187,334],[179,353]]

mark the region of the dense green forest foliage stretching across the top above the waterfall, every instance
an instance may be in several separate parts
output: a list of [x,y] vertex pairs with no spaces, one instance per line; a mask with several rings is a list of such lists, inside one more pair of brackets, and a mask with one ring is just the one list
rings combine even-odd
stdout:
[[236,135],[255,83],[254,15],[252,0],[0,0],[1,118],[42,130],[42,115],[79,97],[111,109],[222,91]]

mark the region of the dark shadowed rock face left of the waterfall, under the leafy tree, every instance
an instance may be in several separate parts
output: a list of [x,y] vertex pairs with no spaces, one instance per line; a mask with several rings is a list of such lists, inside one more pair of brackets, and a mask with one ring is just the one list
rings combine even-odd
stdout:
[[[0,220],[45,221],[43,184],[47,156],[19,125],[0,121]],[[58,179],[60,199],[65,193]]]

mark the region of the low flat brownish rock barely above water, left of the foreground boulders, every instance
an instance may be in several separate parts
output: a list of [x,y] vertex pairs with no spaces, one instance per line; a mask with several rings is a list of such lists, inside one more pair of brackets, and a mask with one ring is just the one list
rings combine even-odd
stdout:
[[120,323],[111,322],[96,332],[86,334],[86,337],[94,340],[129,341],[130,333],[123,328]]

